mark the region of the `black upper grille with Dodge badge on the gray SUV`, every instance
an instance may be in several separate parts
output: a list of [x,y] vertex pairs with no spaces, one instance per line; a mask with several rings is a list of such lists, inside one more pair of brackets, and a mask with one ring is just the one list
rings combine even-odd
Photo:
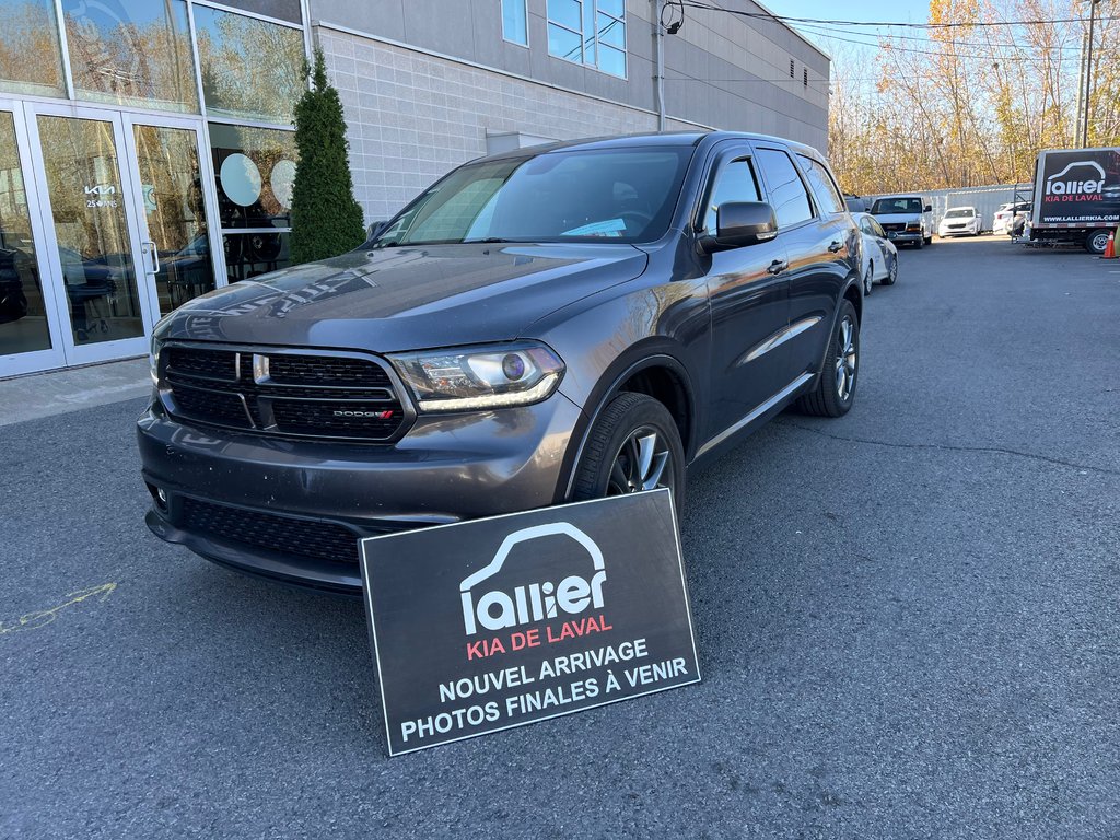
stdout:
[[264,435],[379,442],[408,419],[372,357],[170,345],[160,391],[175,417]]

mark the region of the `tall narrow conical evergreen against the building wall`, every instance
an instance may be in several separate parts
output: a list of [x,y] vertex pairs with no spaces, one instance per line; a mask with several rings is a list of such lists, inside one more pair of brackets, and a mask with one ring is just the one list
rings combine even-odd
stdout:
[[343,103],[327,82],[323,50],[315,50],[311,88],[296,103],[299,167],[291,199],[291,261],[324,260],[365,239],[362,207],[354,199]]

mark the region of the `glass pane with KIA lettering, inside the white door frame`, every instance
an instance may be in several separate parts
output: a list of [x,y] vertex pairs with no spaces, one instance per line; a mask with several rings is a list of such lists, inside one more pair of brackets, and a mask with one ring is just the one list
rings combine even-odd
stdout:
[[74,342],[142,336],[113,125],[38,119]]

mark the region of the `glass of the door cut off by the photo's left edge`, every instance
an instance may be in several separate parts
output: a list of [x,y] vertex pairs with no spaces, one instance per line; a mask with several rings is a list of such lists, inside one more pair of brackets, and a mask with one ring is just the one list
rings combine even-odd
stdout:
[[0,356],[49,348],[16,124],[0,111]]

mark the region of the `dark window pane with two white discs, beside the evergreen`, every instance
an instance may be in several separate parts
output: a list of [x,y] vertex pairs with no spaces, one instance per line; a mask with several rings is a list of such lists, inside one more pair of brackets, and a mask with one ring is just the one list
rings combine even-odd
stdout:
[[290,227],[296,133],[214,122],[209,136],[222,227]]

